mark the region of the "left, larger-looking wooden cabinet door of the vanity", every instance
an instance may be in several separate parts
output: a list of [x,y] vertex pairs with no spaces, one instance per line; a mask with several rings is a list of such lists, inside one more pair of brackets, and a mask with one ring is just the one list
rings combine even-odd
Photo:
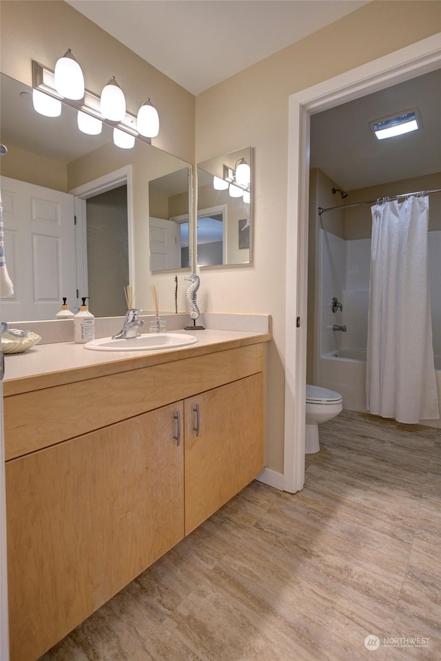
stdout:
[[11,661],[33,661],[176,544],[183,404],[6,464]]

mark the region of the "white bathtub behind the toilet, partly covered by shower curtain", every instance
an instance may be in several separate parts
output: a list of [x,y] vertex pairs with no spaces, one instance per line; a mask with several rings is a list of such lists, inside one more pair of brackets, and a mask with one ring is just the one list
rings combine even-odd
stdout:
[[[435,355],[436,384],[441,411],[441,355]],[[340,392],[343,408],[366,411],[366,350],[338,349],[318,359],[318,386]],[[441,429],[441,420],[422,420]]]

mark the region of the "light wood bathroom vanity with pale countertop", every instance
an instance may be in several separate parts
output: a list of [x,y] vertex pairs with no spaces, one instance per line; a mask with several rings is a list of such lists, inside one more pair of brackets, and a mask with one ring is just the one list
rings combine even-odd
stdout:
[[136,357],[68,343],[70,368],[9,379],[6,357],[11,661],[39,658],[263,470],[270,336],[204,333]]

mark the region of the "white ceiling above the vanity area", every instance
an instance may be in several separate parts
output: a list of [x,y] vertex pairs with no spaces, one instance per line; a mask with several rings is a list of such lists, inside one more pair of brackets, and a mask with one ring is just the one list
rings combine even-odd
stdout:
[[200,94],[369,0],[67,0]]

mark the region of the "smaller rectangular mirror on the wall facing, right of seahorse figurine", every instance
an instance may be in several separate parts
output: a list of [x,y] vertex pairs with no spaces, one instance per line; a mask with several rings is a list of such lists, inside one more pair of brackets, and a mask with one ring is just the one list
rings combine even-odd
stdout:
[[[249,166],[248,176],[238,165]],[[198,163],[198,266],[252,263],[252,149]],[[245,170],[246,172],[246,170]],[[232,196],[232,194],[234,196]]]

